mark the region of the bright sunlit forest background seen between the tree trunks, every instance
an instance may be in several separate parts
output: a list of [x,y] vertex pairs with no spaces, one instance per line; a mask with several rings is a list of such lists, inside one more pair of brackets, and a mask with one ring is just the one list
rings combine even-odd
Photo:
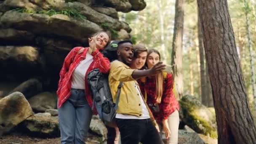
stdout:
[[[173,0],[145,0],[147,8],[142,11],[119,13],[120,19],[127,21],[133,29],[132,39],[136,43],[144,43],[148,48],[160,50],[163,61],[171,64],[173,27],[175,16],[175,1]],[[247,94],[253,106],[253,91],[251,85],[251,64],[246,33],[245,12],[248,11],[250,20],[253,58],[255,59],[256,44],[256,1],[250,0],[247,5],[243,0],[228,0],[229,13],[235,32],[235,42],[240,56],[243,77]],[[197,31],[197,2],[186,0],[184,5],[184,33],[182,53],[182,74],[184,94],[191,94],[199,99],[200,96],[200,59]],[[255,63],[253,64],[255,67]],[[255,77],[254,77],[255,78]]]

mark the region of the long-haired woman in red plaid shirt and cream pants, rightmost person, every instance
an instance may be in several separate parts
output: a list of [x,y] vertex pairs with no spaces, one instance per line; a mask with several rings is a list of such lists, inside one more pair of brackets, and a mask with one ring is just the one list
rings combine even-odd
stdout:
[[[160,60],[159,51],[150,49],[146,61],[147,68],[150,69]],[[178,144],[179,102],[173,93],[173,75],[163,72],[139,79],[138,83],[160,129],[165,132],[167,144]]]

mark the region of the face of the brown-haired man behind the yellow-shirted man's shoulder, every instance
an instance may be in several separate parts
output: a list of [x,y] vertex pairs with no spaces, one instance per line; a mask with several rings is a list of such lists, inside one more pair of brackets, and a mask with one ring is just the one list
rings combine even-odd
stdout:
[[147,60],[147,51],[143,51],[137,55],[136,58],[133,58],[131,62],[132,69],[141,69]]

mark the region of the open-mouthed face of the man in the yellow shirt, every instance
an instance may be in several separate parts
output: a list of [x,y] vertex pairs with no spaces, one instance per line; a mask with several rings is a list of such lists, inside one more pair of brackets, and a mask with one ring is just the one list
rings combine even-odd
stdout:
[[133,45],[131,43],[122,43],[118,45],[117,55],[120,61],[130,66],[133,59]]

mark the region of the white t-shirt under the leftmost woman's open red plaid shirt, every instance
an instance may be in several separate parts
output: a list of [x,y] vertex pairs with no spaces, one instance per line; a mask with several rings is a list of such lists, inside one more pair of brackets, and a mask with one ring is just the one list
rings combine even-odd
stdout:
[[86,53],[85,59],[80,61],[72,74],[71,88],[85,89],[85,73],[92,62],[93,56]]

